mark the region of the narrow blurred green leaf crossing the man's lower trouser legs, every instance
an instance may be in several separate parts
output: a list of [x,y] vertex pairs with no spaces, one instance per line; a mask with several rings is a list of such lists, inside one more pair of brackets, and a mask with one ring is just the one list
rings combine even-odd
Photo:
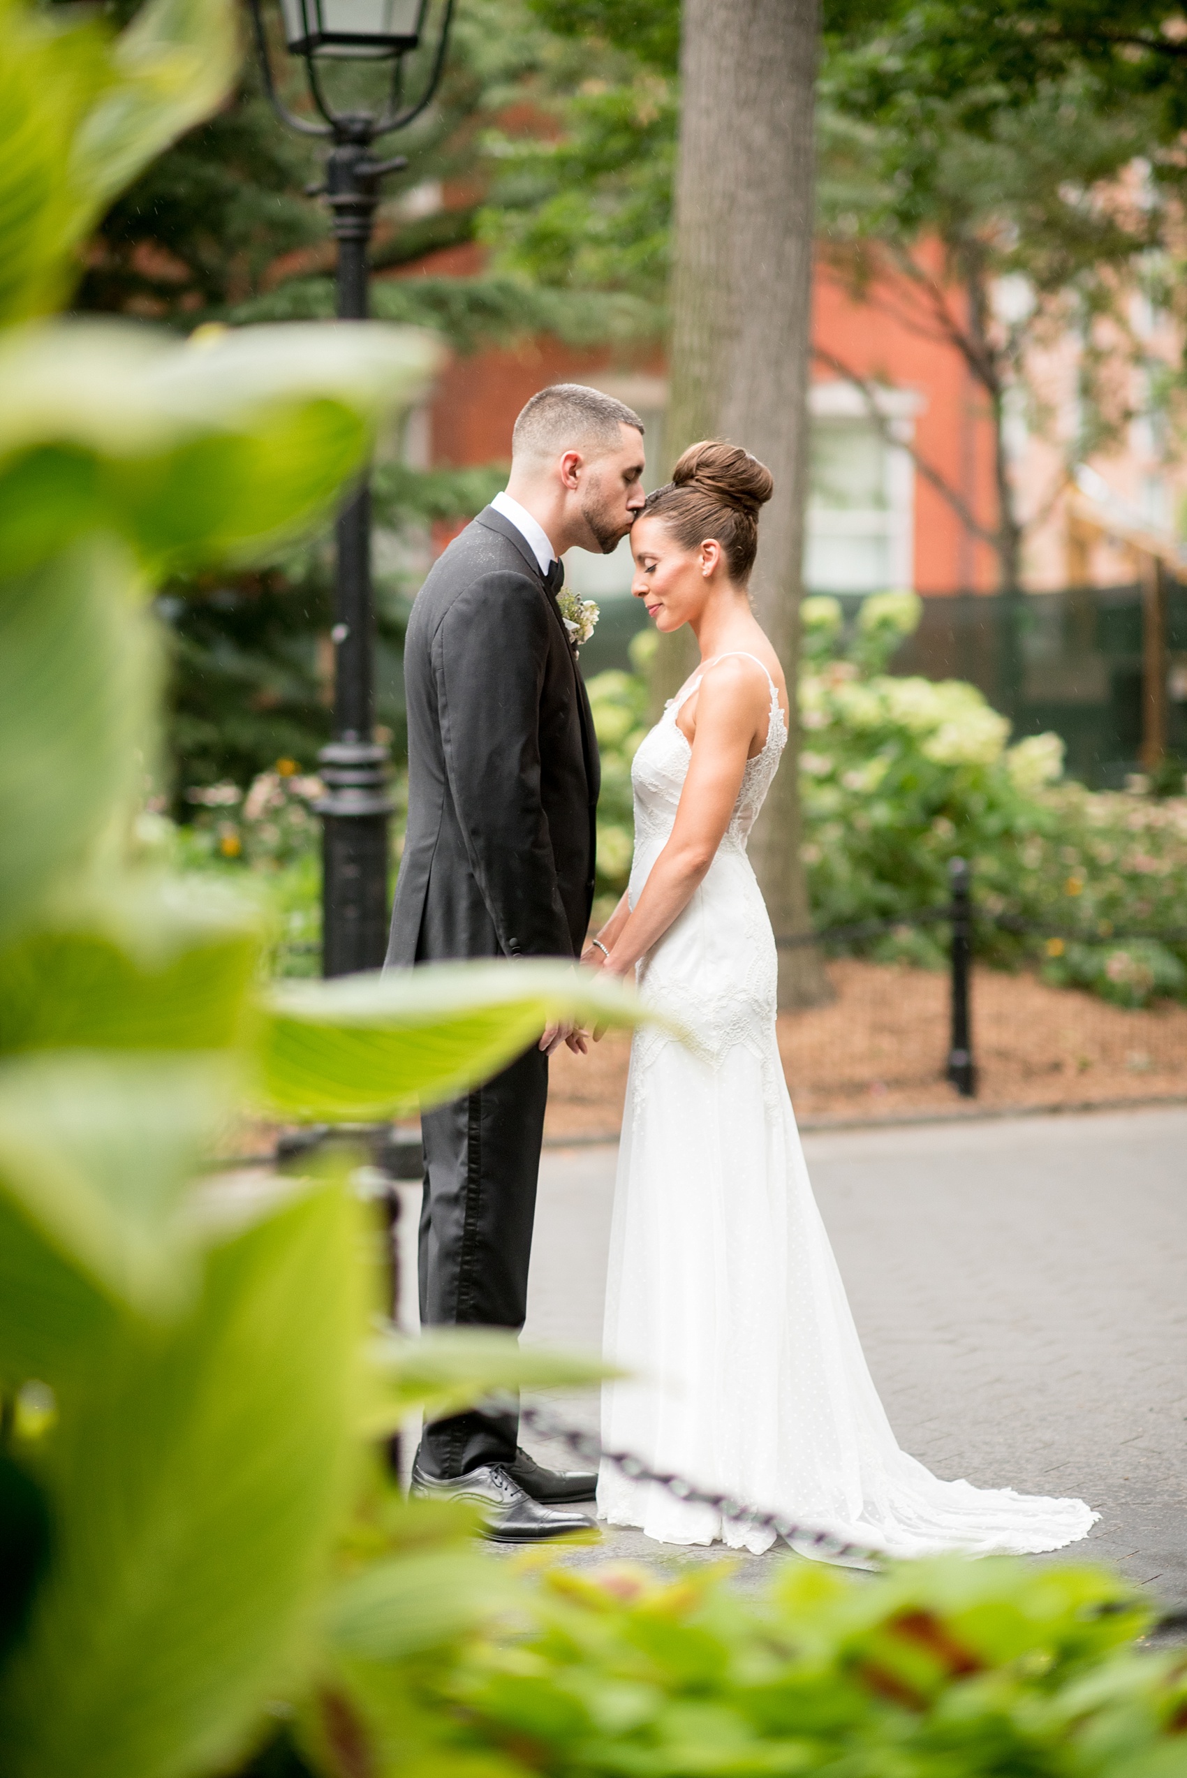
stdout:
[[396,1431],[416,1408],[441,1419],[499,1390],[585,1389],[622,1376],[601,1358],[521,1346],[514,1334],[487,1328],[384,1334],[368,1346],[368,1373],[364,1431],[373,1438]]

